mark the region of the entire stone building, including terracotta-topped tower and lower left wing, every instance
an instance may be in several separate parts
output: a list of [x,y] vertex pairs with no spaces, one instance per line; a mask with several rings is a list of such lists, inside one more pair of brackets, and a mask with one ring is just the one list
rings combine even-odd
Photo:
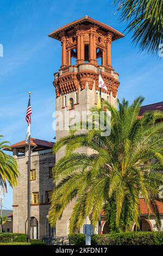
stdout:
[[[83,113],[87,113],[91,107],[97,105],[100,66],[102,78],[107,87],[107,91],[102,89],[102,99],[116,107],[117,90],[120,82],[117,72],[111,65],[111,44],[122,38],[123,34],[86,15],[82,19],[56,29],[49,36],[59,40],[62,47],[61,67],[59,71],[54,73],[53,82],[56,94],[55,110],[58,114],[55,138],[58,141],[68,134],[71,124],[74,123],[74,113],[78,113],[76,122],[83,121]],[[163,111],[163,103],[158,104],[152,108],[159,108]],[[147,106],[142,107],[140,114],[149,108]],[[56,227],[51,228],[48,223],[50,197],[54,188],[52,167],[55,164],[55,159],[58,161],[60,157],[64,156],[64,150],[59,150],[54,157],[52,142],[32,138],[31,145],[30,236],[32,238],[54,235],[67,236],[73,203],[66,207]],[[11,149],[20,171],[18,184],[14,188],[13,231],[14,233],[27,234],[28,145],[26,141],[22,141],[11,145]],[[80,150],[88,154],[91,153],[86,149]],[[143,199],[140,199],[140,210],[141,229],[156,230],[154,216],[151,212],[150,220],[148,220],[147,206]],[[162,204],[159,205],[159,211],[163,224]],[[90,223],[89,217],[85,223]],[[81,228],[79,231],[82,233],[83,229]],[[98,232],[98,223],[95,231]],[[102,211],[101,233],[108,232],[105,213]]]

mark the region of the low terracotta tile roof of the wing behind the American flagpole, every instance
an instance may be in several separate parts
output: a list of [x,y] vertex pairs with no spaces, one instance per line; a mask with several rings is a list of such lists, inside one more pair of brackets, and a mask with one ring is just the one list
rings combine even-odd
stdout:
[[[22,148],[25,147],[27,145],[26,140],[24,139],[24,141],[20,141],[17,142],[15,144],[10,145],[10,148]],[[54,142],[51,141],[43,141],[42,139],[36,139],[36,138],[30,138],[30,145],[32,145],[33,147],[36,148],[53,148]],[[8,150],[5,149],[4,150]]]

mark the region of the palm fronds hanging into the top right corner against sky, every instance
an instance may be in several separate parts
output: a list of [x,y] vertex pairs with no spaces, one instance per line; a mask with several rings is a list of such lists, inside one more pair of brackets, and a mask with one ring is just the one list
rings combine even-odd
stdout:
[[115,0],[121,20],[128,21],[126,30],[133,32],[133,43],[147,52],[158,53],[163,43],[162,0]]

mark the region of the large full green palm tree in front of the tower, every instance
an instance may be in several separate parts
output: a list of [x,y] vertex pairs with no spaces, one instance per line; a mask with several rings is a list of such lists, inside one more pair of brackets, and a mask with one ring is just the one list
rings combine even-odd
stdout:
[[[156,120],[162,119],[163,113],[146,112],[138,118],[142,101],[142,97],[137,97],[130,106],[126,100],[118,101],[118,110],[104,102],[104,108],[111,112],[109,136],[102,136],[101,128],[95,129],[94,124],[87,133],[73,131],[55,143],[53,152],[64,147],[65,156],[53,169],[57,185],[49,211],[51,225],[55,226],[66,206],[75,199],[70,232],[80,228],[87,216],[95,227],[102,209],[106,209],[106,216],[111,214],[108,206],[112,200],[116,206],[116,227],[120,227],[122,219],[127,223],[123,230],[128,229],[129,219],[139,227],[141,195],[160,227],[156,200],[161,200],[159,186],[163,184],[159,172],[163,167],[163,123]],[[92,108],[91,113],[100,114],[101,110]],[[105,113],[102,121],[109,126],[108,112]],[[78,148],[91,151],[77,153]]]

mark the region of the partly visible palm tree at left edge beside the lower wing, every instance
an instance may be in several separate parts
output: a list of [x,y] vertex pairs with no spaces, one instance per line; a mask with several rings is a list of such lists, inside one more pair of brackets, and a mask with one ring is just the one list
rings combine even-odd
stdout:
[[[3,136],[1,135],[0,138]],[[13,187],[17,184],[18,169],[14,157],[5,154],[2,149],[10,149],[8,141],[0,142],[0,186],[7,190],[7,181]]]

